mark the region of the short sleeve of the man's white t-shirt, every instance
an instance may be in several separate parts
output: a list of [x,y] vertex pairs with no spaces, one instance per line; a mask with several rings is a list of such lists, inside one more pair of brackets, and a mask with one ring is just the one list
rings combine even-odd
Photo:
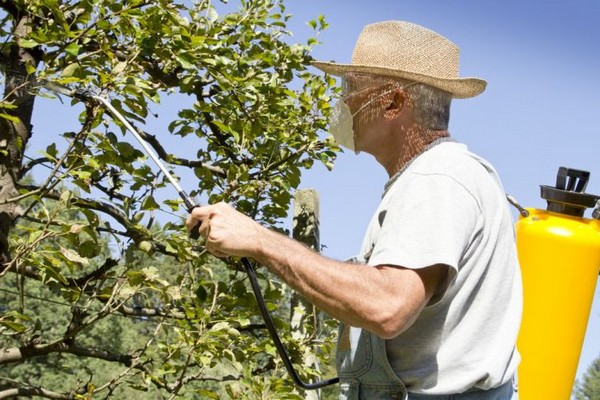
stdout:
[[459,272],[461,259],[476,241],[480,209],[467,188],[450,176],[411,178],[389,193],[369,264],[410,269],[447,265],[448,275],[432,305],[443,297]]

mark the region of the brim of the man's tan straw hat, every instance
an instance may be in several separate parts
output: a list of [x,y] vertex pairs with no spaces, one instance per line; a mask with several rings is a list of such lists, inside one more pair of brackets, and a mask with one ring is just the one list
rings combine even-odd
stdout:
[[452,94],[457,99],[466,99],[477,96],[482,93],[487,82],[479,78],[439,78],[430,75],[419,74],[416,72],[402,71],[397,69],[376,67],[372,65],[357,64],[338,64],[335,62],[313,61],[312,65],[323,72],[331,75],[341,76],[347,73],[364,73],[373,75],[393,76],[397,78],[408,79],[415,82],[421,82],[426,85],[444,90]]

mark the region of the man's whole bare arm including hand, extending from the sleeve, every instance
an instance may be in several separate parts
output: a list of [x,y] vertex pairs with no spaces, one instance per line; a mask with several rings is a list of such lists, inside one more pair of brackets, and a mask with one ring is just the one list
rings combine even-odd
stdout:
[[383,338],[412,325],[447,272],[442,265],[411,270],[335,261],[224,203],[194,209],[188,228],[198,221],[213,254],[254,258],[334,318]]

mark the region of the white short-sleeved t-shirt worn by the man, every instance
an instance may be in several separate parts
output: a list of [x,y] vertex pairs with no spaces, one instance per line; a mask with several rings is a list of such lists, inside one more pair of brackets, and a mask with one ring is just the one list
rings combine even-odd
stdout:
[[373,266],[450,267],[416,322],[387,341],[409,392],[489,389],[513,377],[521,275],[512,215],[491,165],[460,143],[427,150],[386,185],[362,250]]

